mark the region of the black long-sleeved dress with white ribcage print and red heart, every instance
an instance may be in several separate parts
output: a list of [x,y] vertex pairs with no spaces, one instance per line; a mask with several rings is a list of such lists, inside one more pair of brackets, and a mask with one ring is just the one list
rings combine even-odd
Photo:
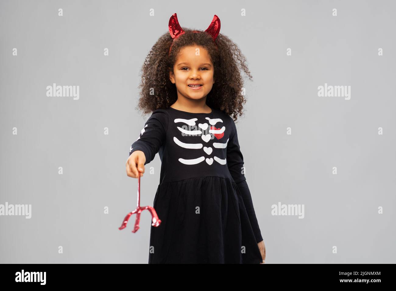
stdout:
[[[234,121],[221,110],[152,112],[131,145],[148,164],[158,152],[148,263],[260,263],[263,240]],[[151,223],[151,222],[150,222]]]

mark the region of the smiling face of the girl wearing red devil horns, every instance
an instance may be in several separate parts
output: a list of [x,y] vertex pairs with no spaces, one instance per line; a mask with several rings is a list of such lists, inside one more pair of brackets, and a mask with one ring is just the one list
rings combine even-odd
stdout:
[[[215,83],[213,74],[214,68],[208,51],[200,46],[187,46],[181,49],[173,72],[169,72],[169,79],[176,84],[178,98],[202,99]],[[191,84],[201,86],[188,86]]]

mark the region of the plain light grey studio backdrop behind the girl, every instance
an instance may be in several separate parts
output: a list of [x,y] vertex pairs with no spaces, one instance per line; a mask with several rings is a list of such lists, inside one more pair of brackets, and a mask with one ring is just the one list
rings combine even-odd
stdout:
[[[175,12],[202,30],[218,15],[247,57],[236,125],[266,263],[394,262],[394,1],[0,3],[0,204],[32,204],[31,219],[0,216],[2,263],[147,263],[150,214],[137,233],[134,217],[118,230],[136,206],[125,162],[149,117],[135,110],[139,70]],[[47,97],[53,83],[80,86],[80,99]],[[318,97],[324,83],[351,86],[351,99]],[[141,205],[160,165],[146,165]],[[304,204],[305,218],[272,216],[278,202]]]

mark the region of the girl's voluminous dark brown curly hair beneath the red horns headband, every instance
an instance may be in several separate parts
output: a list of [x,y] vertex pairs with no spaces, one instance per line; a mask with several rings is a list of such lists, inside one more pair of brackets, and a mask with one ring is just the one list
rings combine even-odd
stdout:
[[[208,51],[214,66],[215,83],[206,97],[206,104],[233,116],[234,121],[237,120],[238,114],[242,116],[243,105],[246,103],[242,95],[243,78],[238,65],[249,79],[252,78],[246,65],[246,58],[238,46],[224,34],[220,33],[215,43],[212,36],[202,30],[184,27],[183,30],[185,33],[174,42],[169,32],[164,33],[148,53],[141,68],[139,109],[147,114],[156,109],[168,108],[176,102],[177,90],[175,84],[169,80],[169,72],[173,72],[173,65],[182,48],[201,46]],[[194,31],[204,33],[194,33]]]

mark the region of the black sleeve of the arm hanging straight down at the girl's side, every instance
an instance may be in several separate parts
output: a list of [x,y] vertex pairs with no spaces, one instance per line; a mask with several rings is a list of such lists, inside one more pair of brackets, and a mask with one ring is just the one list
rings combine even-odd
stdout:
[[[230,117],[231,118],[231,117]],[[238,186],[242,194],[242,198],[246,207],[247,215],[249,216],[250,224],[253,228],[253,232],[255,234],[255,238],[257,243],[263,240],[261,236],[261,231],[259,228],[259,223],[257,222],[256,213],[253,207],[253,201],[251,199],[251,194],[249,191],[249,187],[246,183],[246,177],[244,175],[243,166],[244,166],[244,158],[242,156],[242,152],[240,151],[240,146],[238,142],[238,133],[236,131],[236,126],[234,121],[232,120],[232,133],[231,138],[227,144],[227,164],[228,169],[231,173],[232,178]]]

